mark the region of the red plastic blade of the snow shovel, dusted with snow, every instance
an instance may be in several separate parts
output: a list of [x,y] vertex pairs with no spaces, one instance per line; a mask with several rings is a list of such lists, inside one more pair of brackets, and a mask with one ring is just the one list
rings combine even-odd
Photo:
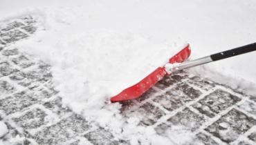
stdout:
[[[190,53],[190,45],[188,44],[188,46],[186,46],[179,53],[174,55],[174,57],[170,58],[169,63],[181,63],[185,59],[188,59],[188,57],[190,57]],[[140,97],[140,95],[145,93],[149,88],[151,88],[158,81],[163,79],[165,75],[168,75],[168,73],[165,71],[165,67],[159,67],[134,86],[130,86],[129,88],[122,90],[122,92],[118,95],[111,97],[110,101],[125,101],[127,99],[134,99],[136,97]]]

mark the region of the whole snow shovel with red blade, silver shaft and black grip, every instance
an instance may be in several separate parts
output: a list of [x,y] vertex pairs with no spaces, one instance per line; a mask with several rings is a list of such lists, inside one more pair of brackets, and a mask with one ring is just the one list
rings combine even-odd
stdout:
[[[165,68],[159,67],[154,72],[152,72],[150,75],[145,77],[142,81],[140,81],[138,84],[135,84],[134,86],[131,86],[129,88],[126,88],[125,90],[122,90],[121,93],[118,95],[111,97],[111,101],[125,101],[127,99],[134,99],[136,97],[140,97],[145,91],[147,91],[149,88],[154,86],[158,81],[163,79],[165,75],[170,75],[172,72],[176,72],[179,70],[183,70],[185,68],[191,68],[194,66],[199,66],[201,64],[207,64],[212,61],[218,61],[221,59],[226,59],[229,57],[234,57],[236,55],[241,55],[247,52],[252,52],[256,50],[256,43],[250,43],[246,46],[241,46],[238,48],[233,48],[231,50],[226,50],[223,52],[219,52],[207,57],[202,57],[199,59],[195,59],[192,61],[186,61],[182,64],[178,64],[177,66],[174,66],[172,68]],[[174,55],[169,61],[170,64],[174,63],[181,63],[185,59],[187,59],[190,56],[190,46],[188,45],[187,47],[183,48],[181,52],[178,54]]]

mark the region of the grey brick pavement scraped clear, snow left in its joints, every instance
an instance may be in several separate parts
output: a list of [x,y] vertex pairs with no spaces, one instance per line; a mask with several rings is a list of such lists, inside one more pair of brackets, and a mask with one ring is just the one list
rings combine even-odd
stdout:
[[[36,24],[33,17],[0,23],[0,121],[9,129],[0,140],[15,145],[129,144],[63,108],[53,89],[51,66],[11,47],[33,37]],[[256,144],[255,98],[179,72],[141,97],[120,102],[120,110],[125,118],[138,117],[140,126],[153,126],[173,144],[181,144],[184,135],[191,136],[185,144]]]

